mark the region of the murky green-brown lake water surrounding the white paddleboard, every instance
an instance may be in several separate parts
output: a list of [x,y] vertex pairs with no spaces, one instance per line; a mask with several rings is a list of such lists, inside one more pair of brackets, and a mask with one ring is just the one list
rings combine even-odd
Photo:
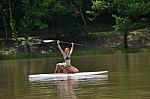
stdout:
[[61,60],[0,61],[0,99],[150,99],[150,53],[72,58],[82,72],[108,70],[106,79],[29,80]]

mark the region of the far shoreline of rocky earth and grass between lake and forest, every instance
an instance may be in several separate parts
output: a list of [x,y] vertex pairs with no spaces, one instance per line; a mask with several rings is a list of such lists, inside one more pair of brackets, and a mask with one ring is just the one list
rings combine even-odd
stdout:
[[[24,40],[20,40],[19,42],[19,53],[17,53],[16,43],[14,41],[1,40],[0,61],[60,57],[61,53],[58,51],[56,43],[44,43],[42,42],[43,39],[31,38],[29,40],[30,52],[27,53],[24,47]],[[128,34],[128,49],[123,48],[123,40],[123,35],[120,32],[91,33],[88,40],[81,40],[81,38],[77,40],[77,43],[83,44],[84,46],[76,46],[73,56],[150,52],[150,33],[145,29],[139,29]],[[65,46],[69,47],[70,45]],[[64,47],[64,44],[62,44],[62,47]]]

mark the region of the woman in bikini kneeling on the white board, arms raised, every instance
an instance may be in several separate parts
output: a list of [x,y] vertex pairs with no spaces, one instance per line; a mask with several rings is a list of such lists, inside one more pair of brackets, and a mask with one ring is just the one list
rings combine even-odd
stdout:
[[62,50],[60,46],[60,41],[57,40],[57,45],[58,45],[60,52],[63,55],[64,62],[56,64],[55,73],[56,72],[60,73],[61,70],[63,71],[63,73],[78,73],[79,72],[77,68],[71,65],[71,54],[73,52],[74,43],[71,43],[71,44],[72,44],[71,49],[65,48],[64,50]]

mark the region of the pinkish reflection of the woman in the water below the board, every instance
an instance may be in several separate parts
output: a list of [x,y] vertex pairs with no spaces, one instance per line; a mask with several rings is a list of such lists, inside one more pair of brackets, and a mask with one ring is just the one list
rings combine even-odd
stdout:
[[78,80],[68,79],[63,81],[56,81],[58,89],[60,90],[61,99],[77,99],[74,88]]

